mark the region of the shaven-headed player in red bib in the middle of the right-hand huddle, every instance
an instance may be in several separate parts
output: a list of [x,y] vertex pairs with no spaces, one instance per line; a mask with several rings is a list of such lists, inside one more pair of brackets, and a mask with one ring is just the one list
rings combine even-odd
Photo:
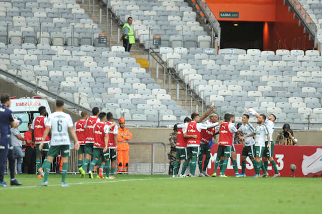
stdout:
[[[213,113],[210,115],[210,120],[206,120],[206,124],[215,123],[218,121],[218,115]],[[208,129],[202,129],[201,130],[201,141],[200,141],[200,155],[198,158],[198,165],[199,165],[199,177],[210,177],[210,175],[207,174],[207,166],[210,160],[210,146],[209,141],[212,139],[213,135],[215,134],[215,127],[208,128]],[[203,163],[203,156],[206,155],[205,161]],[[202,168],[202,164],[203,168]]]

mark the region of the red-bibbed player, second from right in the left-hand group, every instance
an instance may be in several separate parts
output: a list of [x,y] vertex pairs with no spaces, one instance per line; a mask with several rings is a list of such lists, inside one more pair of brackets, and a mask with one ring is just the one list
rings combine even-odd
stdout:
[[[94,125],[94,138],[95,142],[93,145],[93,161],[90,164],[89,175],[90,178],[93,179],[92,170],[94,169],[96,163],[101,160],[101,166],[97,168],[99,171],[99,177],[103,178],[103,169],[105,167],[106,178],[109,178],[110,173],[110,153],[108,150],[108,142],[109,142],[109,132],[111,126],[115,126],[116,123],[113,122],[108,125],[106,121],[106,113],[101,112],[99,114],[100,122],[97,122]],[[106,165],[105,165],[106,164]]]

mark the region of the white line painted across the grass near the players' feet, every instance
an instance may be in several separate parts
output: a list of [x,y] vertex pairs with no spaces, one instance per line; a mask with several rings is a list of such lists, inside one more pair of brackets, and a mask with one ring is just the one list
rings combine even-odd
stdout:
[[[174,179],[170,178],[140,178],[140,179],[124,179],[124,180],[110,180],[110,181],[97,181],[97,182],[78,182],[78,183],[69,183],[68,185],[82,185],[82,184],[99,184],[99,183],[118,183],[118,182],[127,182],[127,181],[147,181],[147,180],[165,180],[165,179]],[[48,186],[60,186],[60,184],[52,184]],[[7,189],[27,189],[27,188],[39,188],[42,186],[15,186],[15,187],[0,187],[1,190]]]

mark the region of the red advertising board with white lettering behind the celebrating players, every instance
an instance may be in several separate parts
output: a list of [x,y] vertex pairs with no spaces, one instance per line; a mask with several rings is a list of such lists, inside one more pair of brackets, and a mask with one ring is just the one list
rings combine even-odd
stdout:
[[[214,164],[217,156],[218,144],[211,147],[211,157],[208,165],[207,173],[209,175],[214,173]],[[242,145],[235,145],[237,153],[238,172],[241,173],[241,151]],[[274,160],[277,164],[277,169],[282,177],[290,177],[290,165],[295,164],[295,177],[309,177],[312,175],[322,174],[322,146],[280,146],[274,147]],[[217,170],[217,174],[219,170]],[[274,175],[274,169],[269,164],[268,173],[270,176]],[[232,168],[232,163],[229,160],[227,170],[225,172],[228,176],[234,176],[235,173]],[[255,174],[253,164],[247,158],[246,175],[253,176]]]

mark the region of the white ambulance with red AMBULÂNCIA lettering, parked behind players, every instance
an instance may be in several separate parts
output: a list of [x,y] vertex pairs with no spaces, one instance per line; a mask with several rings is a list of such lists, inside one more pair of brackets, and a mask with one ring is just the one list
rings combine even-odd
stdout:
[[10,100],[10,110],[22,119],[22,124],[18,127],[22,134],[28,131],[28,123],[39,116],[38,108],[40,106],[45,106],[47,113],[51,114],[48,101],[41,97],[23,97],[19,99],[17,99],[17,97],[10,97]]

